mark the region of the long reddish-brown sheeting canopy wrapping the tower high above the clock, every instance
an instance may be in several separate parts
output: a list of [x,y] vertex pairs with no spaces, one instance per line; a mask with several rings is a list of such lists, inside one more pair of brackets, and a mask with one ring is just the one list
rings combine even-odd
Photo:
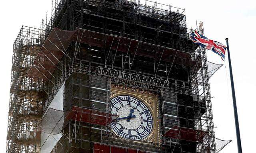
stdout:
[[[68,56],[66,50],[72,41],[79,45],[80,43],[84,43],[104,47],[109,49],[109,51],[120,51],[125,54],[134,55],[134,57],[143,56],[154,58],[158,65],[160,61],[169,62],[171,66],[170,69],[167,70],[168,72],[171,71],[173,64],[179,64],[190,67],[190,73],[192,76],[196,76],[195,74],[202,67],[202,58],[197,54],[86,29],[77,28],[74,31],[66,31],[53,27],[27,75],[35,81],[38,80],[38,78],[50,80],[50,78],[54,77],[52,73],[58,65],[65,67],[61,62],[62,57],[65,55],[67,58],[71,58]],[[76,53],[76,50],[74,52]],[[207,63],[210,78],[222,65],[214,64],[209,61],[207,61]],[[200,73],[197,77],[200,81]]]

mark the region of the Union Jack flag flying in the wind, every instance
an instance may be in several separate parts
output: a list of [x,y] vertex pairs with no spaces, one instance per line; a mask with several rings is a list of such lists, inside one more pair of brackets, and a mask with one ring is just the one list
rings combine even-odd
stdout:
[[214,53],[220,55],[221,59],[224,61],[225,52],[227,47],[218,41],[210,40],[204,35],[198,33],[198,31],[194,31],[190,33],[190,37],[192,41],[208,50],[213,51]]

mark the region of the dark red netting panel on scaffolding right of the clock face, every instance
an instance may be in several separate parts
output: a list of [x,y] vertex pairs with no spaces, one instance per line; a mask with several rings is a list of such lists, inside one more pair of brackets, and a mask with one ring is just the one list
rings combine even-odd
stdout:
[[203,141],[207,134],[208,132],[203,130],[173,126],[169,131],[164,134],[164,136],[173,139],[197,142]]

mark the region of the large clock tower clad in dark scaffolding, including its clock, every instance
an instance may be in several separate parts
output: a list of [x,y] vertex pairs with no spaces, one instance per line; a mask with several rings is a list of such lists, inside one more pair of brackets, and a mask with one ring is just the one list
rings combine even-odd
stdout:
[[[62,136],[42,139],[43,150],[215,152],[210,91],[198,80],[207,77],[206,58],[188,37],[185,10],[173,9],[150,1],[60,2],[46,28],[48,46],[30,69],[45,79],[56,74],[54,89],[63,86],[64,119],[53,120],[64,120]],[[43,69],[41,59],[63,67]],[[53,104],[43,103],[45,114]]]

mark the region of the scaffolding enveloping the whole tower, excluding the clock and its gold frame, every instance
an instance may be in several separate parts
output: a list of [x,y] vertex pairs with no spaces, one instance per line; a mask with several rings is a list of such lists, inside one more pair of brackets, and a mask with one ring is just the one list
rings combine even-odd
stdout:
[[[192,29],[186,28],[184,9],[148,0],[145,4],[61,0],[55,8],[38,44],[17,45],[24,46],[26,54],[31,47],[36,50],[30,53],[26,69],[22,68],[27,65],[22,64],[26,54],[14,47],[7,152],[40,152],[44,143],[40,144],[39,133],[53,138],[61,134],[52,153],[216,153],[222,149],[215,144],[209,87],[209,78],[222,65],[208,62],[205,50],[189,38]],[[203,34],[202,22],[199,29]],[[31,87],[22,85],[24,78]],[[62,85],[63,110],[54,110],[49,106]],[[157,95],[159,141],[135,143],[111,131],[109,124],[116,117],[110,114],[112,86]],[[21,111],[22,102],[16,100],[25,91],[37,100],[22,97],[41,111],[36,117],[36,109]],[[18,112],[23,112],[23,120],[27,114],[26,121],[33,120],[28,131],[35,133],[35,139],[24,145],[30,149],[33,145],[31,151],[19,147],[15,130],[24,128]]]

